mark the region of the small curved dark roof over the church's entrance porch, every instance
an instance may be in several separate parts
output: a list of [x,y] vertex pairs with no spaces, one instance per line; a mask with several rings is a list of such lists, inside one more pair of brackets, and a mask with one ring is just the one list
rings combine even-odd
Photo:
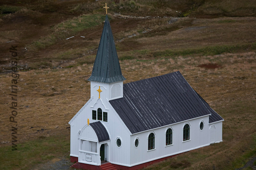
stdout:
[[99,142],[109,140],[108,131],[100,121],[90,123],[89,125],[91,125],[92,129],[95,131]]

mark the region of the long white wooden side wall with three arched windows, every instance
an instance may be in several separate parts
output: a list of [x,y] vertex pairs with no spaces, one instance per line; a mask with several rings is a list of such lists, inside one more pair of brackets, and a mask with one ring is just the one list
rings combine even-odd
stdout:
[[[203,130],[200,130],[201,121],[204,122]],[[191,121],[177,123],[152,131],[132,135],[130,140],[130,166],[209,145],[208,122],[209,116],[205,116]],[[183,127],[187,123],[190,125],[190,140],[183,141]],[[172,128],[172,145],[166,146],[166,131],[168,128]],[[155,149],[148,150],[148,135],[152,132],[155,134]],[[138,147],[135,147],[136,138],[140,141]]]

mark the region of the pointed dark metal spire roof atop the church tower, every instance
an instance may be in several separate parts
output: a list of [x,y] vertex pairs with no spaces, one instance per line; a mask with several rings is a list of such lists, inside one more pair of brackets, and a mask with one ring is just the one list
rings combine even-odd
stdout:
[[106,15],[92,75],[88,80],[104,83],[126,80],[121,72],[108,15]]

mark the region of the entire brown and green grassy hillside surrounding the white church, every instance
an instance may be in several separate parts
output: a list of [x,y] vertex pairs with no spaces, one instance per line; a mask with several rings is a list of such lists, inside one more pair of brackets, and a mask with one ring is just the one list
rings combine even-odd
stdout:
[[[146,169],[234,169],[256,156],[256,19],[244,17],[255,16],[255,3],[236,0],[107,2],[114,37],[122,39],[116,41],[116,47],[126,82],[180,70],[225,119],[223,143],[180,154]],[[0,160],[4,160],[1,169],[30,169],[60,155],[68,156],[67,122],[90,96],[90,84],[86,80],[91,74],[102,32],[102,6],[101,1],[82,0],[21,0],[0,6],[3,25],[0,64],[5,68],[1,70],[10,69],[10,54],[6,51],[10,43],[6,41],[12,40],[19,47],[19,63],[23,64],[19,67],[35,69],[20,72],[20,144],[18,152],[11,151],[8,145],[0,147],[3,153]],[[170,18],[124,19],[113,16],[113,12],[190,17],[168,24]],[[222,16],[229,18],[219,18]],[[133,34],[137,36],[129,38]],[[75,35],[73,39],[64,41],[72,35]],[[197,67],[208,63],[221,67],[215,70]],[[67,68],[50,69],[54,66]],[[0,141],[10,141],[7,94],[11,76],[2,73],[0,80],[0,94],[4,95],[0,99],[3,110],[0,121],[4,127]],[[42,128],[46,130],[37,131]],[[55,135],[60,138],[53,138]]]

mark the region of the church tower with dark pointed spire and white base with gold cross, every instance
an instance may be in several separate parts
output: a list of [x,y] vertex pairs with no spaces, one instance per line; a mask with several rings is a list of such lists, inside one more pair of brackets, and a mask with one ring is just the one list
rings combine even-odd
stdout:
[[124,80],[126,78],[121,72],[108,15],[106,15],[92,75],[88,78],[91,82],[91,98],[92,96],[95,99],[107,100],[122,98]]

